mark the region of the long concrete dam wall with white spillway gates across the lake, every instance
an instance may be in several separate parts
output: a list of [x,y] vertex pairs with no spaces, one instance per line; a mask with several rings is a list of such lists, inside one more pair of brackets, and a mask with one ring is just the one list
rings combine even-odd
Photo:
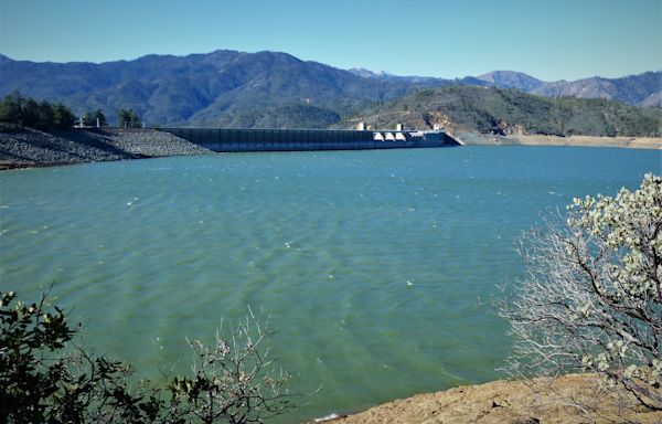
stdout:
[[444,131],[160,128],[212,151],[302,151],[451,147]]

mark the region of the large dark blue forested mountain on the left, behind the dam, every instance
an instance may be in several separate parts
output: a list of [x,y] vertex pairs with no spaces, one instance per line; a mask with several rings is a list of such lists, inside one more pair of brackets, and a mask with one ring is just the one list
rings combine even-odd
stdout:
[[306,118],[314,127],[327,126],[334,116],[417,87],[366,81],[276,52],[148,55],[100,64],[0,61],[1,96],[18,89],[25,96],[63,102],[77,115],[100,107],[111,123],[120,108],[134,108],[148,125],[162,126],[286,125],[288,119],[277,110]]

